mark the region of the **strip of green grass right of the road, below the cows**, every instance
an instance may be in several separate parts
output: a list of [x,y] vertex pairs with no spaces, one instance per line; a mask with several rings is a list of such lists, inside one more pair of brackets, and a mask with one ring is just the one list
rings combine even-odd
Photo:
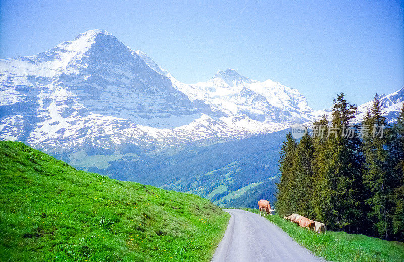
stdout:
[[[258,209],[240,208],[259,214]],[[269,221],[283,229],[294,240],[313,254],[328,261],[338,262],[381,262],[404,261],[404,243],[386,241],[365,235],[346,232],[327,231],[326,234],[308,231],[279,215],[265,216]]]

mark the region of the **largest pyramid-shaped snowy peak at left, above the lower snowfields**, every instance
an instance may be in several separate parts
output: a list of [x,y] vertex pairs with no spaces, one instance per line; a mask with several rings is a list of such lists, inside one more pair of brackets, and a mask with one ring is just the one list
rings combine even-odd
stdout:
[[[65,117],[73,112],[73,103],[84,111],[150,126],[158,126],[160,118],[200,111],[167,77],[103,30],[80,34],[36,56],[2,60],[0,67],[2,92],[14,97],[11,104],[63,96]],[[0,102],[10,105],[8,100]]]

